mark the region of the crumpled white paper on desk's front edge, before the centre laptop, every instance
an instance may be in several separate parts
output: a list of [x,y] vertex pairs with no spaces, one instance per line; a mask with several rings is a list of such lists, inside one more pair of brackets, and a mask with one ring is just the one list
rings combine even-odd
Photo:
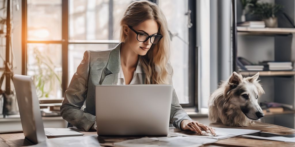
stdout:
[[198,147],[207,143],[214,143],[217,139],[196,138],[196,137],[158,137],[158,138],[139,138],[113,143],[115,147]]

